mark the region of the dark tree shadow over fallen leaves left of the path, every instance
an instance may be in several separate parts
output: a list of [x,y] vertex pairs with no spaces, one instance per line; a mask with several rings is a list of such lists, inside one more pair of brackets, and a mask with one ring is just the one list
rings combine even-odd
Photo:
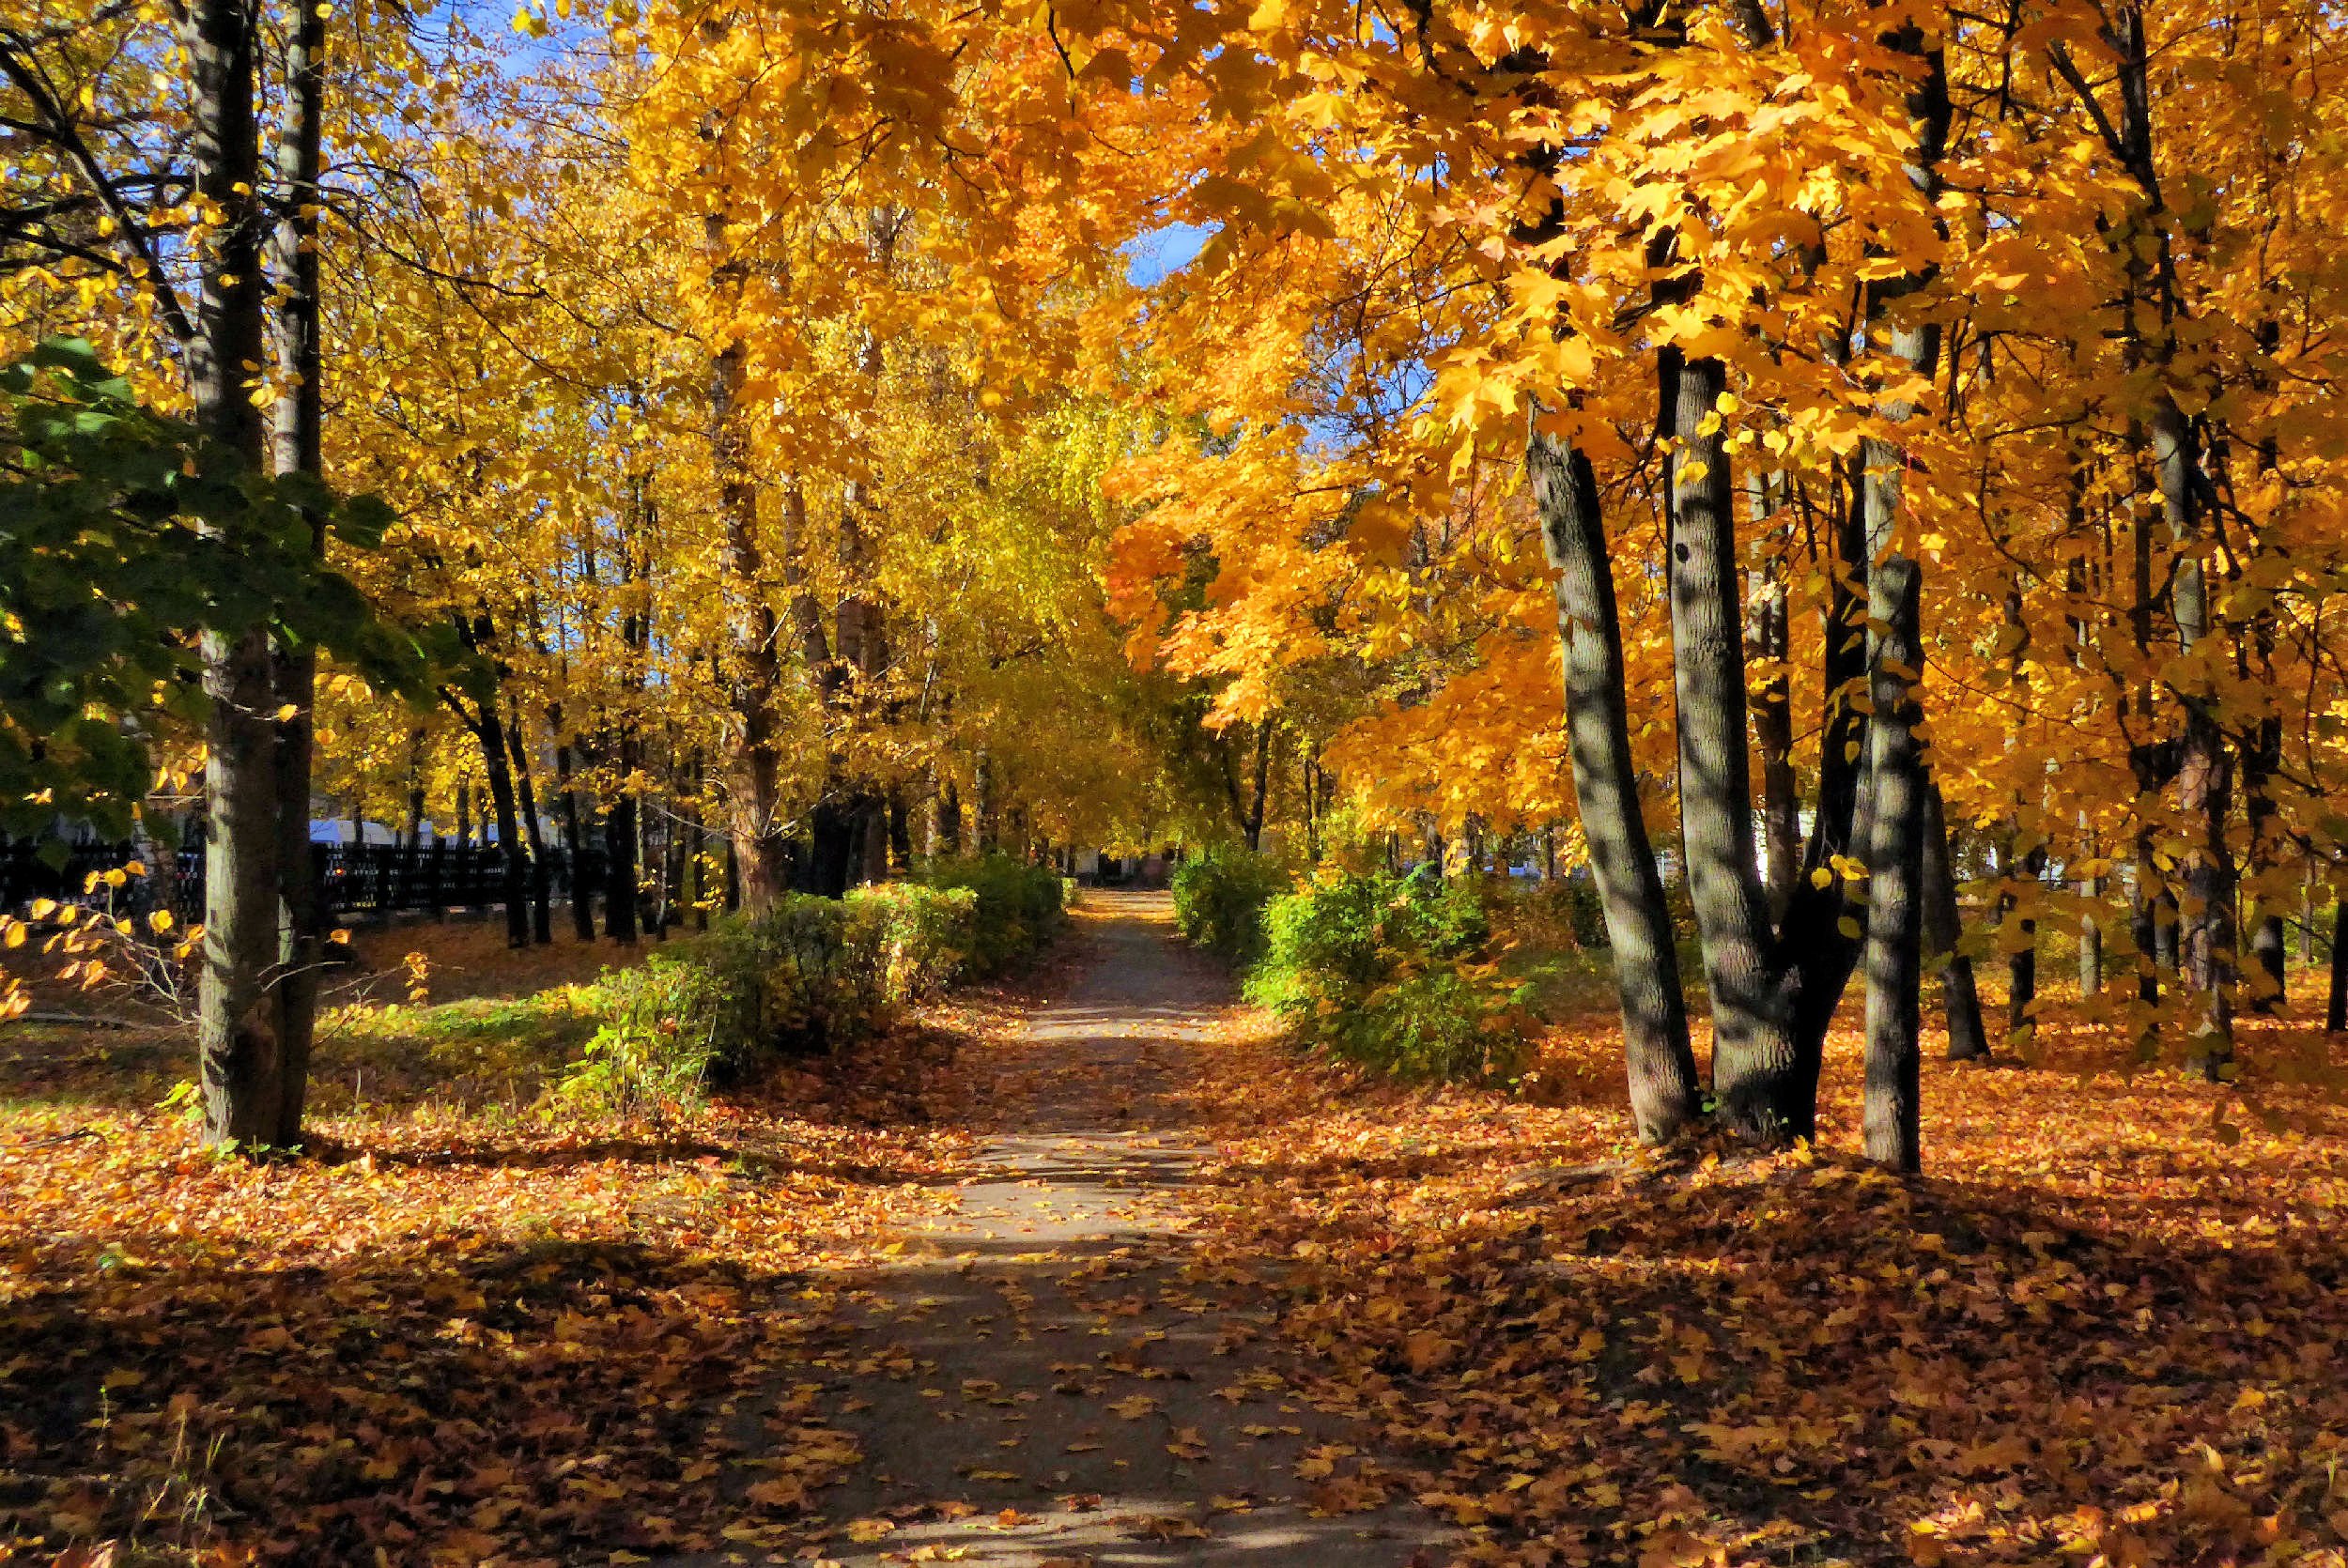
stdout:
[[[803,1277],[610,1244],[92,1270],[0,1307],[0,1540],[301,1563],[603,1561],[695,1521],[782,1542],[850,1453],[801,1387],[826,1324]],[[723,1462],[744,1422],[780,1505]]]

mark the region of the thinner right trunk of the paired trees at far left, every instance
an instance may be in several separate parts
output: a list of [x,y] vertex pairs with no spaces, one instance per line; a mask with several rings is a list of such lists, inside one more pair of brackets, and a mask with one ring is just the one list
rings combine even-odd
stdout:
[[[305,5],[284,49],[286,134],[277,148],[279,216],[272,235],[277,275],[277,397],[272,458],[279,474],[324,481],[324,357],[319,352],[319,164],[326,113],[326,9]],[[322,556],[326,530],[312,519],[310,552]],[[270,1143],[298,1148],[310,1096],[310,1047],[317,1035],[317,976],[326,946],[326,911],[310,852],[310,770],[317,746],[317,650],[279,646],[270,664],[277,688],[277,883],[284,901],[277,941],[277,1129]]]

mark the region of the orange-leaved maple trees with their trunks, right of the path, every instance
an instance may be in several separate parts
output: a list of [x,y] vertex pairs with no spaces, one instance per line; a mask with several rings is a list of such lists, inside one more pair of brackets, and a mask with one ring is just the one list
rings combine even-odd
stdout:
[[2336,16],[1273,9],[1244,261],[1153,324],[1235,366],[1129,474],[1162,655],[1240,716],[1350,685],[1324,756],[1390,812],[1576,815],[1644,1136],[1702,1091],[1658,843],[1756,1138],[1857,974],[1918,1162],[1951,833],[1993,946],[2069,925],[2127,1054],[2231,1077],[2341,876]]

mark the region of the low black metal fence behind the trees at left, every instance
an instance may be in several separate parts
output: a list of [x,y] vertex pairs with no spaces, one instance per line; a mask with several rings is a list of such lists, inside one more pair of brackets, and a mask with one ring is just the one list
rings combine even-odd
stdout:
[[[120,887],[106,885],[108,871],[131,861],[141,876],[127,876]],[[439,913],[451,908],[491,908],[505,904],[505,852],[498,845],[310,845],[310,864],[319,897],[333,920],[387,920],[399,913]],[[92,890],[92,878],[99,887]],[[524,897],[533,876],[524,873]],[[571,901],[573,890],[603,887],[603,857],[547,850],[547,897]],[[21,908],[33,899],[59,904],[103,904],[120,913],[169,908],[183,920],[204,911],[204,850],[178,850],[169,861],[155,850],[143,854],[131,845],[70,845],[63,864],[49,864],[38,845],[12,843],[0,850],[0,908]]]

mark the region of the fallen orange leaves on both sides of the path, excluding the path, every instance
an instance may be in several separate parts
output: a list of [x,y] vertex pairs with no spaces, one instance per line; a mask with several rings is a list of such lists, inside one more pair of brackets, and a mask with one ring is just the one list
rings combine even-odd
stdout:
[[[0,1561],[838,1549],[810,1519],[866,1460],[848,1303],[972,1176],[989,1080],[953,1042],[1019,998],[648,1127],[517,1099],[500,1040],[559,1049],[561,995],[481,979],[406,1075],[340,1035],[326,1157],[279,1167],[148,1108],[176,1047],[0,1040]],[[2348,1117],[2043,1038],[1928,1066],[1897,1181],[1843,1153],[1848,1033],[1817,1150],[1651,1155],[1599,1014],[1545,1042],[1540,1103],[1242,1016],[1181,1087],[1219,1155],[1179,1268],[1270,1300],[1284,1387],[1364,1422],[1298,1465],[1313,1505],[1416,1495],[1470,1566],[2341,1568]],[[2320,1049],[2256,1023],[2247,1075]]]

